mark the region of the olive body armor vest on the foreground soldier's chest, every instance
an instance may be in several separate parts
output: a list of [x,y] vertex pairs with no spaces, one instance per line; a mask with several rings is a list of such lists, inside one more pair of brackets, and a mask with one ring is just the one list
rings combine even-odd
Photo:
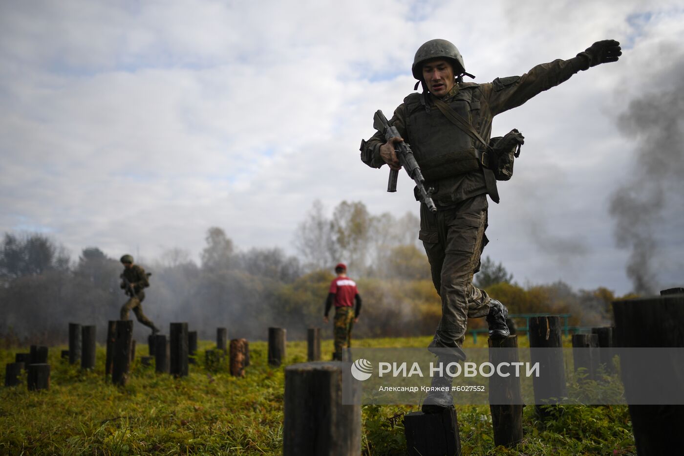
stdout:
[[[478,87],[478,84],[463,84],[448,103],[476,129],[480,107]],[[453,125],[428,97],[423,92],[404,99],[408,140],[425,180],[437,181],[479,169],[475,150],[480,144]]]

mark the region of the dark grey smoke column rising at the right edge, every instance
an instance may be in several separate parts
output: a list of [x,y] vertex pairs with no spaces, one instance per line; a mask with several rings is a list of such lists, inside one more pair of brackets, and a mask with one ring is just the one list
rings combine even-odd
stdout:
[[609,199],[618,247],[629,249],[627,276],[634,292],[658,290],[658,227],[681,217],[670,210],[684,190],[684,53],[663,45],[654,61],[669,62],[618,117],[622,134],[635,144],[635,164]]

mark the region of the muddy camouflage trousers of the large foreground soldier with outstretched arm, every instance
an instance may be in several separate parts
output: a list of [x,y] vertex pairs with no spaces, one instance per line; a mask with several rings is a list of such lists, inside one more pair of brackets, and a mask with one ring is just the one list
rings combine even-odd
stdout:
[[460,347],[468,318],[489,313],[490,297],[473,286],[480,255],[487,244],[487,195],[466,199],[458,206],[432,214],[421,204],[420,240],[428,254],[432,282],[442,299],[442,318],[430,347]]

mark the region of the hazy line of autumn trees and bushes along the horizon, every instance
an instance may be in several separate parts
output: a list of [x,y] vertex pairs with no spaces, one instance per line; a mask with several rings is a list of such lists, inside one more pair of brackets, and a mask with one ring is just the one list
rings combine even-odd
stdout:
[[[162,329],[185,321],[212,339],[216,327],[231,338],[265,338],[269,326],[303,338],[321,327],[324,301],[337,262],[347,263],[365,303],[356,337],[427,335],[440,316],[440,299],[417,241],[410,213],[370,214],[363,203],[342,201],[326,216],[315,201],[295,231],[297,256],[278,248],[242,251],[221,227],[210,227],[200,262],[176,247],[140,263],[150,277],[144,312]],[[0,337],[5,344],[61,343],[68,322],[96,325],[103,340],[107,320],[126,301],[122,265],[96,246],[77,259],[42,233],[5,233],[0,244]],[[502,264],[486,257],[476,283],[511,312],[572,313],[574,323],[609,319],[609,290],[575,292],[564,283],[522,288]],[[131,314],[131,318],[134,316]],[[472,320],[469,327],[484,325]],[[144,340],[142,325],[134,335]]]

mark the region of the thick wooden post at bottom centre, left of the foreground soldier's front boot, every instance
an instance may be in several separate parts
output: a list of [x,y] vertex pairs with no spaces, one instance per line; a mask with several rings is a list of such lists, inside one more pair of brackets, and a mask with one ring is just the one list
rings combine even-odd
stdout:
[[[284,456],[352,456],[361,451],[361,407],[343,405],[350,365],[311,362],[285,368]],[[345,381],[354,382],[349,377]]]

